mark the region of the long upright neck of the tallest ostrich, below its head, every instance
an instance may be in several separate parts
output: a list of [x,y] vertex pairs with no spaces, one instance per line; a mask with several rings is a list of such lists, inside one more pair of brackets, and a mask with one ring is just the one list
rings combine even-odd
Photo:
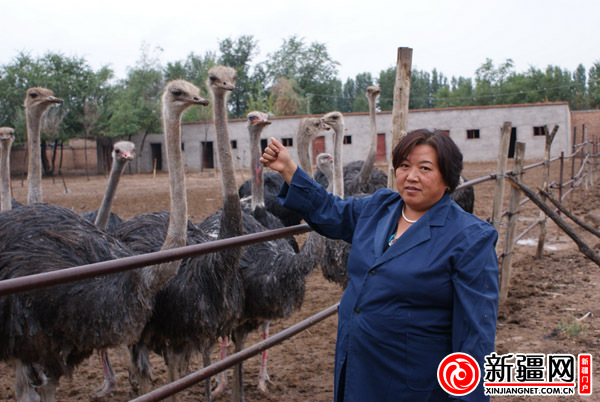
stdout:
[[219,91],[215,92],[213,97],[213,111],[223,188],[223,216],[221,217],[219,236],[220,238],[226,238],[240,236],[243,233],[242,207],[237,192],[235,172],[233,169],[233,156],[231,154],[231,142],[229,141],[229,131],[227,129],[227,106],[225,101],[227,94]]

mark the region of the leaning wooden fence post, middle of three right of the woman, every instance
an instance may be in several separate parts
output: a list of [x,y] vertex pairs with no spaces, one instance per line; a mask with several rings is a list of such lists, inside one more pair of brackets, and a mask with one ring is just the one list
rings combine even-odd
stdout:
[[[513,174],[517,180],[521,179],[523,174],[523,161],[525,159],[525,143],[517,142],[515,147],[515,165]],[[510,286],[510,270],[512,267],[513,250],[515,248],[515,234],[517,232],[517,222],[519,218],[519,202],[521,201],[521,191],[512,186],[510,189],[510,201],[508,204],[508,225],[506,227],[506,241],[504,242],[504,258],[500,268],[500,303],[503,303],[508,297],[508,287]]]

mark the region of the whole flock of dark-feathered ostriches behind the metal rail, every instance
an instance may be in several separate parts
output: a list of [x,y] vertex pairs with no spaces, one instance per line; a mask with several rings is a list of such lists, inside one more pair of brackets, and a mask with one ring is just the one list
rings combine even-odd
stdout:
[[[62,100],[46,88],[30,88],[24,102],[29,146],[28,197],[22,205],[11,196],[10,147],[14,130],[0,127],[0,280],[92,264],[215,239],[235,237],[299,224],[301,217],[285,210],[276,199],[283,184],[277,173],[263,172],[260,137],[271,122],[265,113],[248,114],[252,177],[236,186],[227,123],[227,97],[235,89],[235,70],[215,66],[206,85],[211,100],[184,80],[166,84],[162,95],[170,211],[148,211],[122,221],[111,207],[119,178],[135,157],[131,142],[113,148],[113,166],[99,210],[82,216],[45,204],[42,194],[40,126],[47,109]],[[308,117],[297,131],[299,166],[339,197],[363,197],[387,186],[387,176],[375,168],[377,130],[375,102],[378,87],[369,87],[371,131],[364,161],[342,165],[344,118],[330,112]],[[188,220],[186,182],[181,153],[181,116],[194,105],[212,105],[216,129],[223,202],[202,222]],[[313,172],[312,140],[321,132],[334,136],[334,154],[318,155]],[[453,194],[473,211],[473,190]],[[309,233],[300,248],[295,239],[279,239],[220,252],[101,276],[51,288],[0,296],[0,361],[14,367],[18,401],[55,401],[62,376],[70,376],[97,352],[104,384],[91,397],[109,399],[116,383],[108,358],[110,348],[126,348],[129,380],[138,393],[150,391],[149,353],[161,356],[169,382],[186,375],[190,358],[210,351],[227,339],[243,349],[251,331],[268,336],[271,320],[288,317],[302,306],[308,275],[320,266],[324,276],[345,287],[350,244]],[[269,377],[263,353],[259,384],[267,392]],[[98,368],[100,370],[100,367]],[[206,399],[224,391],[224,376]],[[176,397],[172,397],[175,400]],[[243,369],[234,369],[232,400],[242,401]]]

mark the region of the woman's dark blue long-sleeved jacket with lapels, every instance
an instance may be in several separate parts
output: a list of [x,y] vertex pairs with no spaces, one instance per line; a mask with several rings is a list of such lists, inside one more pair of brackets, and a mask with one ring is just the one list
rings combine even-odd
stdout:
[[482,384],[498,312],[493,226],[444,195],[386,249],[403,205],[397,192],[341,199],[298,169],[279,201],[318,233],[352,243],[338,311],[335,400],[341,391],[344,401],[455,398],[437,380],[453,352],[473,356],[481,371],[477,389],[460,399],[489,400]]

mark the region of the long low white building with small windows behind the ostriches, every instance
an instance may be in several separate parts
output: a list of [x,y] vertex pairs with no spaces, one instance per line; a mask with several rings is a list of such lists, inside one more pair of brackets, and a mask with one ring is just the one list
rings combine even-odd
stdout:
[[[307,116],[271,118],[272,124],[262,134],[263,147],[269,137],[275,137],[290,144],[288,149],[293,157],[297,157],[296,129],[299,120],[304,117]],[[368,113],[347,113],[344,121],[344,163],[364,159],[370,144]],[[511,122],[513,127],[509,157],[514,152],[514,143],[520,141],[526,144],[527,159],[543,158],[543,126],[547,126],[548,130],[552,130],[555,125],[559,126],[552,143],[552,156],[560,155],[561,151],[571,151],[571,112],[567,102],[410,110],[408,131],[418,128],[446,131],[462,151],[465,162],[494,161],[498,157],[500,132],[505,121]],[[391,146],[391,126],[392,113],[379,112],[377,161],[381,163],[386,163],[387,150]],[[250,145],[246,120],[229,120],[229,136],[235,167],[248,168]],[[141,137],[135,141],[139,149]],[[163,142],[162,134],[148,135],[143,151],[138,152],[142,172],[151,172],[155,159],[157,170],[166,169],[166,164],[162,163],[165,158]],[[202,166],[208,169],[218,166],[215,127],[212,122],[183,123],[182,142],[188,171],[200,171]],[[333,136],[330,132],[324,132],[313,142],[312,152],[313,155],[319,152],[333,153]]]

